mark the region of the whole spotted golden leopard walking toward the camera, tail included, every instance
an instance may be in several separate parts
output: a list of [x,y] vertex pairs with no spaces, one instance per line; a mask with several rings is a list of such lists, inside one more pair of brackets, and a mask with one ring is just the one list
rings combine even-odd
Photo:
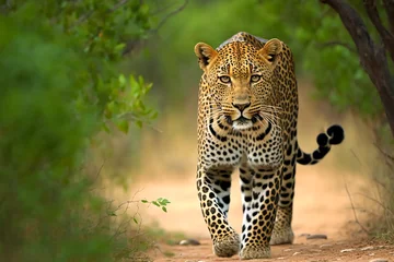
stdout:
[[[196,186],[217,257],[270,258],[271,245],[292,243],[296,164],[314,165],[344,141],[340,124],[298,143],[298,84],[290,48],[240,32],[212,48],[194,48],[198,90]],[[242,230],[229,224],[232,174],[239,170]]]

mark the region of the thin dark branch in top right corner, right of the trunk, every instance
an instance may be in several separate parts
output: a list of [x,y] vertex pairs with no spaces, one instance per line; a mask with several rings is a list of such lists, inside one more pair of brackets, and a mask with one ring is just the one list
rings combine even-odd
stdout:
[[[376,28],[379,35],[382,38],[382,41],[384,44],[384,47],[387,49],[391,59],[394,62],[394,35],[389,32],[384,25],[382,24],[382,20],[379,15],[379,11],[376,8],[376,1],[375,0],[364,0],[364,7],[368,13],[368,16],[370,17],[372,24]],[[392,13],[390,16],[394,19],[394,13]]]

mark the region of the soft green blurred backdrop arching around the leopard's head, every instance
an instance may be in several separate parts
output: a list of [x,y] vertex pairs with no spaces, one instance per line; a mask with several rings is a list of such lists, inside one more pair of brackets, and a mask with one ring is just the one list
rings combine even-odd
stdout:
[[[179,7],[184,1],[163,2]],[[352,2],[363,10],[360,1]],[[350,36],[337,14],[320,1],[189,1],[150,38],[147,52],[134,58],[131,64],[154,83],[152,95],[159,97],[160,106],[183,107],[196,100],[200,71],[194,46],[205,41],[218,47],[242,31],[287,43],[298,74],[314,80],[316,98],[328,99],[343,111],[356,109],[372,117],[381,114],[379,97],[360,68]]]

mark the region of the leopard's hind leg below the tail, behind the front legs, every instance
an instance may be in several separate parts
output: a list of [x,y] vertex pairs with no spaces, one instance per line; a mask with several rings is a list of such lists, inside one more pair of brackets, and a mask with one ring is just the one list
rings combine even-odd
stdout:
[[296,155],[285,160],[283,177],[280,189],[279,206],[270,245],[292,243],[294,234],[291,229],[292,209],[296,186]]

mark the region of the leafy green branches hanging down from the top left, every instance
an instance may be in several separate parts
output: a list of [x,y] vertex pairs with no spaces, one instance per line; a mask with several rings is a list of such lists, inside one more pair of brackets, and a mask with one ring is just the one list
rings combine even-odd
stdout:
[[[13,12],[9,17],[26,29],[61,34],[69,52],[83,59],[83,70],[73,71],[81,82],[80,96],[76,100],[78,109],[83,109],[85,104],[95,104],[105,121],[115,122],[120,115],[129,112],[137,119],[154,117],[142,103],[151,84],[146,84],[142,78],[136,81],[132,75],[126,81],[116,66],[127,41],[137,43],[148,36],[151,22],[147,4],[138,0],[125,3],[46,0],[40,4],[18,1],[10,9]],[[40,27],[37,27],[37,21]]]

